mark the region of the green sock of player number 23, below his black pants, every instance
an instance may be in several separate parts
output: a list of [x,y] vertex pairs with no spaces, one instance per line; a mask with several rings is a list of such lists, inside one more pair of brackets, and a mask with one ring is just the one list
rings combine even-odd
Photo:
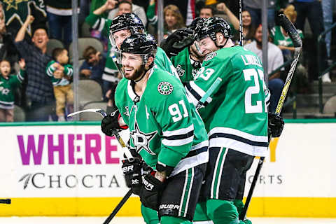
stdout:
[[226,200],[208,200],[208,216],[214,224],[239,224],[238,211],[233,202]]

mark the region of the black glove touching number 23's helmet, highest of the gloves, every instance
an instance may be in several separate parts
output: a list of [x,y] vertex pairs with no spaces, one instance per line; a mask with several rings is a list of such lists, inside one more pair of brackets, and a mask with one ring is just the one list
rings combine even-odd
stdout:
[[176,29],[162,41],[160,47],[165,50],[168,57],[176,56],[184,48],[194,43],[193,31],[188,28]]

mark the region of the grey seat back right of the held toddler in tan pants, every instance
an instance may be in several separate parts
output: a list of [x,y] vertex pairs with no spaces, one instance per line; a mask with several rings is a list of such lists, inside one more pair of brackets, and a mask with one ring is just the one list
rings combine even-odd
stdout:
[[[72,83],[73,85],[73,83]],[[78,81],[78,98],[80,108],[87,102],[99,102],[103,99],[102,87],[94,80],[83,79]]]

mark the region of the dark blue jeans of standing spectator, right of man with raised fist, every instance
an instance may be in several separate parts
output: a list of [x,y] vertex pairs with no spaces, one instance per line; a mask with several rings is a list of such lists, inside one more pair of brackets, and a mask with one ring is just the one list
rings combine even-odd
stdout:
[[[50,38],[58,39],[68,46],[72,41],[71,15],[48,13]],[[62,36],[63,34],[63,36]]]

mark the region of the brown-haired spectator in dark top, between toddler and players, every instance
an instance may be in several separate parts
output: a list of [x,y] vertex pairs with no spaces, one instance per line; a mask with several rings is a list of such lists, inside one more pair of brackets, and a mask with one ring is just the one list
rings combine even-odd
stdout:
[[106,61],[106,59],[101,56],[102,55],[99,51],[92,46],[88,46],[83,52],[85,61],[79,69],[80,75],[85,76],[85,78],[95,80],[100,85],[103,84],[102,74],[104,72]]

